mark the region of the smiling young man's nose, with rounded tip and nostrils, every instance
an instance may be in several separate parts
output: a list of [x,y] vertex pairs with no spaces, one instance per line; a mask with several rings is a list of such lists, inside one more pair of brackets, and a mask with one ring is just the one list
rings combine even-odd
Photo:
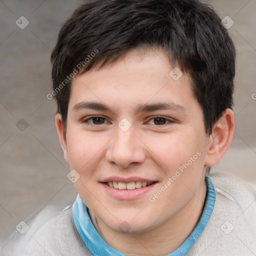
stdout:
[[145,146],[131,126],[123,131],[116,128],[116,135],[109,141],[106,160],[126,168],[131,163],[142,163],[145,159]]

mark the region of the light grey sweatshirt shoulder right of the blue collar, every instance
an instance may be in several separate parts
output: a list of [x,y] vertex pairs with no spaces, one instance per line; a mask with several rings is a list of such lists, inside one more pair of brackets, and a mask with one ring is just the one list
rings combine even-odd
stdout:
[[250,255],[256,251],[255,185],[218,171],[207,176],[215,188],[215,204],[187,255]]

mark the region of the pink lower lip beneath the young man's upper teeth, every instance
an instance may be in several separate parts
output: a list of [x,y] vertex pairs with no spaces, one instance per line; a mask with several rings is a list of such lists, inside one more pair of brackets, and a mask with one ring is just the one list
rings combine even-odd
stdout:
[[145,194],[149,190],[151,190],[157,182],[152,183],[149,186],[135,188],[135,189],[116,189],[108,186],[105,183],[101,183],[105,188],[106,192],[116,198],[121,200],[133,200],[139,198],[141,195]]

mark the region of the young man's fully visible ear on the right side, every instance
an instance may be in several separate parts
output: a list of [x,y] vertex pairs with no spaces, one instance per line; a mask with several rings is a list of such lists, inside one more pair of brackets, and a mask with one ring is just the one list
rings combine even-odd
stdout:
[[227,108],[214,124],[209,136],[204,160],[206,166],[213,166],[219,162],[231,143],[233,132],[234,114],[231,109]]

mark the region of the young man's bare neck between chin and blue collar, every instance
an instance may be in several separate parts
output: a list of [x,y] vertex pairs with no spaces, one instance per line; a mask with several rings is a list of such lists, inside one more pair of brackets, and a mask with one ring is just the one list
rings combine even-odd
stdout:
[[[111,247],[125,255],[162,256],[178,248],[192,232],[203,211],[205,196],[206,184],[203,179],[193,198],[181,211],[147,232],[135,234],[116,232],[96,216],[93,224]],[[93,218],[90,210],[89,215]]]

